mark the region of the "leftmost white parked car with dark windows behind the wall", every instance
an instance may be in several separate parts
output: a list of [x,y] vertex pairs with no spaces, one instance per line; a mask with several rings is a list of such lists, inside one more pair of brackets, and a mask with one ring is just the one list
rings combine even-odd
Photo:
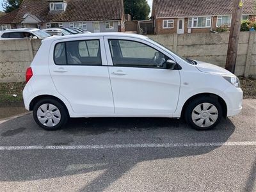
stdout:
[[8,29],[0,31],[0,40],[2,39],[20,39],[20,38],[38,38],[44,39],[51,35],[36,28]]

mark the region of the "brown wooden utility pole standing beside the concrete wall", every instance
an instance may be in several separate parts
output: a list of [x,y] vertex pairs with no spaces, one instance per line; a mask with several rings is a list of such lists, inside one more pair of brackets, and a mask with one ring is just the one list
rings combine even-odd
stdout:
[[237,58],[237,47],[239,42],[239,33],[241,29],[241,17],[243,12],[243,0],[233,0],[233,13],[232,21],[230,26],[230,35],[228,42],[228,52],[227,52],[227,61],[226,69],[235,73],[236,68],[236,58]]

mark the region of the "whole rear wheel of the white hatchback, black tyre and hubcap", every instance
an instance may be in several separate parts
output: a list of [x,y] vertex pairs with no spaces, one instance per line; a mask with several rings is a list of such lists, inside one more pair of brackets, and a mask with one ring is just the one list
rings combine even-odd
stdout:
[[33,108],[35,122],[47,131],[60,129],[68,121],[65,106],[55,99],[45,98],[36,102]]

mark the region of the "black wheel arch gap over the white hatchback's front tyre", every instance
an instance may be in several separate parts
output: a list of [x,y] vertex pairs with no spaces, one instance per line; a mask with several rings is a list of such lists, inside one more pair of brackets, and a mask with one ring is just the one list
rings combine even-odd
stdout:
[[227,104],[226,104],[225,100],[223,98],[221,98],[219,95],[216,95],[214,93],[198,93],[196,95],[193,95],[192,97],[189,97],[189,99],[186,100],[185,104],[182,107],[182,111],[181,111],[182,117],[184,117],[184,113],[185,113],[186,108],[188,107],[189,102],[191,102],[191,100],[197,99],[199,97],[211,97],[211,98],[217,99],[218,102],[220,103],[221,109],[223,111],[222,115],[224,117],[227,117]]

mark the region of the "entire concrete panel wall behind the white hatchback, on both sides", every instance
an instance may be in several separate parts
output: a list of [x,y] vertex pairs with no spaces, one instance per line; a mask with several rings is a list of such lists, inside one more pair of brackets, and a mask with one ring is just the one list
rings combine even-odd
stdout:
[[[148,35],[181,56],[225,67],[229,33]],[[0,40],[0,82],[25,80],[40,40]],[[256,76],[256,32],[241,32],[236,62],[237,76]]]

